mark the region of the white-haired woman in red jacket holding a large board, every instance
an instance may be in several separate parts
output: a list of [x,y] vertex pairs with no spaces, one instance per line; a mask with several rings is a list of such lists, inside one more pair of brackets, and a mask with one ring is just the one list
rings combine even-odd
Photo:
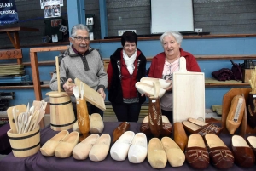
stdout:
[[[148,77],[162,78],[166,82],[172,82],[172,73],[179,70],[179,58],[186,59],[187,71],[201,72],[193,54],[181,48],[183,36],[177,31],[166,31],[160,37],[160,43],[164,52],[154,56]],[[165,115],[170,123],[172,121],[172,84],[166,88],[166,93],[160,99],[162,115]]]

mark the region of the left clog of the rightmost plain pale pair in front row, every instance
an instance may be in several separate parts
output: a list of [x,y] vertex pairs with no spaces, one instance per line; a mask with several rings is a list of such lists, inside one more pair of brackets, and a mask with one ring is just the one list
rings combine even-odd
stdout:
[[158,138],[149,140],[148,162],[152,168],[165,168],[167,163],[166,152]]

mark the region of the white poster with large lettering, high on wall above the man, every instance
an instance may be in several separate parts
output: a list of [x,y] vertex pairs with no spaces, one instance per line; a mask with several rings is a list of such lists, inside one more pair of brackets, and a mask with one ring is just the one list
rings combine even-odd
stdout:
[[44,9],[44,18],[60,17],[63,0],[40,0],[41,9]]

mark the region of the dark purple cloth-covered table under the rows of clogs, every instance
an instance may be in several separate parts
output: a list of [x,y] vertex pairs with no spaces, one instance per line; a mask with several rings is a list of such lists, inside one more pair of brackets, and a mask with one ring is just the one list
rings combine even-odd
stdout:
[[[105,128],[103,133],[107,133],[111,135],[113,140],[113,130],[119,126],[119,122],[107,122],[104,123]],[[134,131],[135,133],[139,132],[141,123],[130,123],[130,130]],[[41,146],[53,137],[58,132],[55,132],[50,129],[49,126],[41,130]],[[224,140],[224,143],[230,146],[230,138],[231,135],[220,134],[220,138]],[[149,141],[149,139],[148,139]],[[111,144],[113,145],[113,144]],[[24,158],[17,158],[14,157],[13,153],[11,152],[7,157],[4,157],[3,160],[0,161],[0,168],[3,171],[29,171],[29,170],[36,170],[36,171],[45,171],[45,170],[55,170],[55,171],[79,171],[79,170],[108,170],[108,171],[131,171],[131,170],[139,170],[139,171],[148,171],[148,170],[195,170],[190,168],[189,165],[184,162],[182,167],[179,168],[172,168],[171,165],[167,162],[166,168],[162,169],[154,169],[150,166],[148,159],[146,158],[143,163],[140,164],[133,164],[129,162],[128,158],[125,159],[123,162],[114,161],[110,154],[106,159],[102,162],[91,162],[89,157],[86,160],[78,161],[75,160],[72,156],[68,158],[57,158],[57,157],[44,157],[41,155],[41,152],[38,151],[37,154],[31,157],[24,157]],[[207,170],[218,170],[214,168],[211,164],[207,168]],[[234,164],[232,168],[229,170],[256,170],[256,165],[253,168],[240,168]]]

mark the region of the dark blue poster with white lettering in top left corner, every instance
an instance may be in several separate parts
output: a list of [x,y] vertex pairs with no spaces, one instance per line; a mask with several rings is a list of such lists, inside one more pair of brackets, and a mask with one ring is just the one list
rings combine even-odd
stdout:
[[15,0],[1,0],[0,26],[13,24],[19,21]]

